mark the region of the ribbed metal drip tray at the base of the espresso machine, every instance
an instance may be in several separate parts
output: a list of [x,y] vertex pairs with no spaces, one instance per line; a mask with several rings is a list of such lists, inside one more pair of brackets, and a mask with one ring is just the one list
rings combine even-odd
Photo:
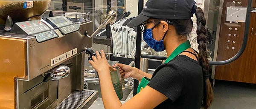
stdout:
[[98,91],[75,91],[54,109],[88,109],[98,98]]

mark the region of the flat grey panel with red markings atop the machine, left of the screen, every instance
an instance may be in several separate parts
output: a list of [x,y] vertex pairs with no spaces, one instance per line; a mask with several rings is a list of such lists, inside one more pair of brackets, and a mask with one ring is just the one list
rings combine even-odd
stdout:
[[48,26],[42,23],[40,20],[31,20],[26,22],[15,23],[20,29],[22,29],[26,34],[36,34],[38,32],[45,32],[51,30]]

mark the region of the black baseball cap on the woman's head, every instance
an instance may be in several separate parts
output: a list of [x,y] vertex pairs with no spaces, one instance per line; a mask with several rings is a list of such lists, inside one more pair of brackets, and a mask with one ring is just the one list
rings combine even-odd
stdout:
[[149,18],[186,20],[193,16],[194,0],[148,0],[141,13],[127,24],[132,28]]

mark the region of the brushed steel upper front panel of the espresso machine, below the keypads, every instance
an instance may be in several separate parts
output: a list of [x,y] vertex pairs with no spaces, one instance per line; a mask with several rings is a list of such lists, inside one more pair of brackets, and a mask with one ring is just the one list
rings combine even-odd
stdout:
[[[93,22],[81,24],[79,31],[67,34],[62,37],[57,37],[52,40],[48,40],[43,43],[38,43],[35,37],[28,39],[28,78],[33,78],[47,72],[49,69],[57,66],[58,64],[51,66],[51,59],[64,54],[72,49],[77,48],[77,53],[84,51],[84,47],[92,46],[92,38],[84,36],[84,30],[92,33]],[[52,53],[54,52],[54,53]],[[66,60],[72,57],[67,58]],[[61,60],[64,62],[64,60]]]

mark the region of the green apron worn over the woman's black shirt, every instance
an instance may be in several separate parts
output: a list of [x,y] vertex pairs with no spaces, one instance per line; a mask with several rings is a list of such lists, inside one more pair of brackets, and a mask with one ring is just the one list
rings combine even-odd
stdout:
[[[180,44],[173,52],[172,54],[166,59],[164,63],[169,63],[173,58],[177,57],[181,52],[185,51],[186,49],[189,49],[190,47],[190,42],[187,40],[186,42]],[[137,88],[137,93],[139,93],[142,89],[147,86],[149,83],[150,79],[147,77],[143,77],[138,88]]]

